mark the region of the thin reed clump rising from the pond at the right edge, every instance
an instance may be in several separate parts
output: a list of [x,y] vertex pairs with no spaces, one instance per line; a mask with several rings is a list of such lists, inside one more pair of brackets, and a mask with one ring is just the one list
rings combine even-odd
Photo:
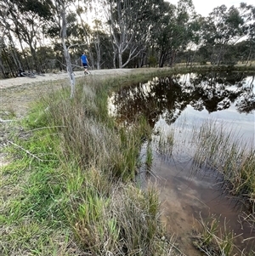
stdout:
[[255,150],[238,139],[235,131],[227,132],[216,121],[204,122],[195,132],[195,162],[207,165],[223,174],[235,195],[246,196],[255,206]]

